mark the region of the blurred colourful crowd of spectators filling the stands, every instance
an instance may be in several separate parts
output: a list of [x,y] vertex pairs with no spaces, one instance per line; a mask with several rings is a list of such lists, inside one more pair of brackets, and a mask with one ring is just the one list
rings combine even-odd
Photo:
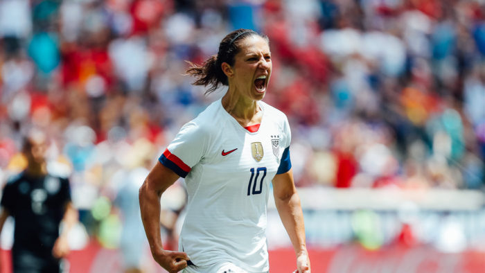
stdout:
[[484,187],[482,0],[0,1],[0,179],[40,127],[76,207],[136,213],[168,141],[225,91],[204,96],[184,61],[235,28],[270,37],[297,186]]

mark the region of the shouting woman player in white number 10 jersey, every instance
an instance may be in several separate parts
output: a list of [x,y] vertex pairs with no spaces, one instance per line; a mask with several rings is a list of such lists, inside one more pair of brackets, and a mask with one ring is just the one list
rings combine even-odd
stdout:
[[[290,162],[290,126],[263,103],[272,71],[267,36],[235,30],[218,55],[191,64],[194,85],[227,93],[186,123],[140,188],[141,218],[153,258],[168,272],[268,272],[266,210],[274,200],[297,257],[310,272],[303,213]],[[179,252],[162,248],[160,197],[185,177],[187,214]]]

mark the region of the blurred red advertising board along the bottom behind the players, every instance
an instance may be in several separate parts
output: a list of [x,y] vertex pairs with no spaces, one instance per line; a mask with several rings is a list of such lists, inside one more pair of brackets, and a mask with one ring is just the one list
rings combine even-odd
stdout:
[[[483,273],[485,252],[468,250],[460,253],[442,253],[432,247],[385,247],[369,251],[358,245],[333,249],[309,248],[314,273]],[[152,262],[150,257],[148,259]],[[71,273],[123,272],[119,252],[103,249],[91,242],[85,249],[69,255]],[[155,263],[155,262],[152,262]],[[150,265],[150,272],[165,272]],[[295,268],[291,248],[270,250],[270,269],[274,273],[292,272]],[[10,273],[10,252],[1,252],[1,272]]]

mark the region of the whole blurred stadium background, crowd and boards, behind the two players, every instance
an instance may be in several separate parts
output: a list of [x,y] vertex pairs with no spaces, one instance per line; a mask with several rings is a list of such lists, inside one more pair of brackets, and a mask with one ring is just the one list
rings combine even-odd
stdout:
[[[485,271],[485,1],[3,0],[0,179],[24,166],[26,130],[46,130],[80,211],[70,272],[122,272],[125,240],[145,240],[146,168],[224,92],[204,96],[184,60],[236,28],[271,40],[265,101],[292,126],[313,272]],[[170,247],[182,182],[166,195]],[[290,272],[272,201],[268,220],[272,272]],[[11,243],[9,221],[5,272]]]

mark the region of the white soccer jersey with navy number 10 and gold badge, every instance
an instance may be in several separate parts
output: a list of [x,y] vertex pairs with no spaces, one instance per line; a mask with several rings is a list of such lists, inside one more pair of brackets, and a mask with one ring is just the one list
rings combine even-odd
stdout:
[[217,100],[186,123],[160,157],[185,177],[187,215],[179,250],[201,267],[231,262],[269,270],[266,210],[270,182],[291,168],[290,126],[263,102],[257,132],[243,128]]

